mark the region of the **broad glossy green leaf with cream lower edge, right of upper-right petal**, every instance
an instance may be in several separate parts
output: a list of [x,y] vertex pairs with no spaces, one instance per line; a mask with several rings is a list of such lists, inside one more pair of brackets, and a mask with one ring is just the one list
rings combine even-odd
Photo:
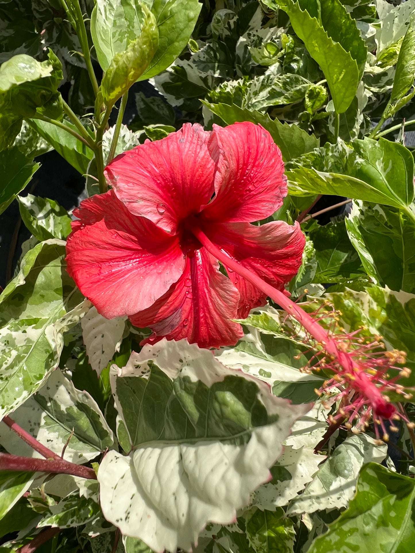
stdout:
[[327,144],[295,160],[287,171],[290,194],[346,196],[408,211],[414,197],[411,152],[384,138],[355,140],[352,147]]

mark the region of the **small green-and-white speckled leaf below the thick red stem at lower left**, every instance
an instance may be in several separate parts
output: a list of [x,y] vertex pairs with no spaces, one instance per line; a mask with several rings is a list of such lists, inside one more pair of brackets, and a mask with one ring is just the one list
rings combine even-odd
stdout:
[[58,504],[49,507],[47,514],[39,523],[38,528],[51,526],[52,528],[74,528],[98,518],[101,509],[93,499],[79,497],[79,494],[69,495]]

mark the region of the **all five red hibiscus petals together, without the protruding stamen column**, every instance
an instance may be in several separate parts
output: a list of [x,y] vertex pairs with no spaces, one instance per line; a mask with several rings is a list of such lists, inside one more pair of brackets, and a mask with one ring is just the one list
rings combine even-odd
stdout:
[[266,294],[219,262],[191,231],[197,223],[219,250],[278,290],[297,273],[298,223],[251,225],[287,195],[281,152],[252,123],[204,131],[186,123],[163,140],[118,155],[106,168],[112,190],[84,200],[68,238],[68,272],[98,312],[150,327],[154,343],[188,338],[234,345],[232,319]]

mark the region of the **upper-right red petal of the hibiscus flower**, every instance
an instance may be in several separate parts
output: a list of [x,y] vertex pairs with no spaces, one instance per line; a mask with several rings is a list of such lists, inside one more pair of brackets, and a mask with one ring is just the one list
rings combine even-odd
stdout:
[[[215,199],[203,217],[216,222],[252,222],[272,215],[287,196],[278,146],[261,125],[214,125],[209,148],[217,156]],[[217,152],[217,153],[216,153]]]

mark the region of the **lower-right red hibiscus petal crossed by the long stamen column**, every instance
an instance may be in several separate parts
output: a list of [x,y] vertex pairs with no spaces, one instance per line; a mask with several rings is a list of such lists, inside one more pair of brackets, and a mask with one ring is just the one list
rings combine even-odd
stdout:
[[[260,227],[249,223],[206,223],[204,231],[218,248],[278,290],[284,290],[284,284],[297,274],[301,265],[305,238],[298,223],[291,226],[273,221]],[[226,270],[240,293],[238,318],[245,319],[253,307],[264,305],[266,295]]]

